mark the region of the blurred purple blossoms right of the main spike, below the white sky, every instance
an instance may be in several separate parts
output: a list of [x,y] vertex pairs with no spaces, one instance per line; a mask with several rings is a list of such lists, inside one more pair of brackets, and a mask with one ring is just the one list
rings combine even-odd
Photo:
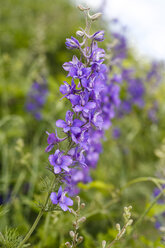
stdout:
[[[120,75],[121,85],[121,103],[117,110],[118,118],[123,118],[125,115],[130,114],[134,107],[138,109],[147,109],[147,117],[152,123],[157,123],[158,102],[153,100],[153,93],[151,88],[155,91],[158,84],[161,82],[161,65],[158,62],[152,62],[150,68],[146,71],[135,70],[136,66],[133,63],[130,67],[124,63],[129,59],[129,44],[125,35],[125,28],[119,27],[119,21],[114,20],[113,24],[117,25],[119,31],[112,32],[113,46],[111,49],[111,64],[115,64],[118,68],[118,75]],[[135,62],[136,63],[136,62]],[[110,67],[112,69],[112,67]],[[150,92],[148,90],[150,85]],[[146,91],[150,96],[150,106],[145,106]],[[112,136],[116,139],[121,135],[118,127],[115,127]]]

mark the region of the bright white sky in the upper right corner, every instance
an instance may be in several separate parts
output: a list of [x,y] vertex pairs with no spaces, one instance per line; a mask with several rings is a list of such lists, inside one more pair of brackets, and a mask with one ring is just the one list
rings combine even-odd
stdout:
[[[103,0],[76,0],[99,8]],[[165,0],[107,0],[104,14],[127,27],[130,44],[141,56],[165,60]]]

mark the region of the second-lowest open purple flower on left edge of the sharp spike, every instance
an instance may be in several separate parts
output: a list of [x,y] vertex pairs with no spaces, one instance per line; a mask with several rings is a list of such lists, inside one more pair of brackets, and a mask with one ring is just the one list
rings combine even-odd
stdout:
[[54,173],[59,174],[62,169],[68,172],[70,170],[68,166],[72,165],[73,160],[70,156],[63,155],[63,153],[57,149],[53,155],[49,156],[49,162],[54,166]]

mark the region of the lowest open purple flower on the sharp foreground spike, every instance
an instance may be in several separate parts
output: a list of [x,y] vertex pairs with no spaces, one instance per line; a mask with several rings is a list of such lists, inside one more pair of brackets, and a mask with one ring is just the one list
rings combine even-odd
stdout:
[[55,192],[52,192],[50,195],[50,199],[52,203],[55,205],[59,204],[63,211],[70,210],[68,206],[73,205],[73,201],[69,197],[66,197],[65,195],[66,195],[66,192],[62,192],[61,186],[57,194]]

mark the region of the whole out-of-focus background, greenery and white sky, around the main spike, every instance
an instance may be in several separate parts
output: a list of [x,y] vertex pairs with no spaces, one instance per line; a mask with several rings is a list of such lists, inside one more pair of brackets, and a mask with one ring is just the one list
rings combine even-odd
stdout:
[[[69,107],[60,101],[59,92],[66,80],[62,64],[74,54],[66,49],[65,40],[75,36],[85,21],[76,8],[82,1],[0,3],[0,232],[7,236],[16,228],[25,235],[45,195],[42,178],[49,183],[46,131],[55,130],[56,120],[64,118]],[[129,236],[130,227],[114,247],[164,247],[165,202],[163,197],[155,201],[155,192],[165,180],[165,3],[91,0],[88,5],[92,13],[104,13],[92,26],[93,32],[105,30],[102,46],[107,49],[116,39],[124,42],[126,54],[118,73],[134,71],[143,88],[138,96],[143,104],[133,101],[129,111],[122,109],[122,117],[114,118],[102,141],[97,168],[91,172],[93,181],[79,185],[87,217],[80,230],[84,236],[80,247],[101,247],[102,240],[113,240],[115,224],[123,223],[123,208],[128,205],[133,207],[134,222],[141,217],[143,221]],[[114,33],[122,37],[115,38]],[[120,47],[116,49],[117,53]],[[121,83],[122,102],[131,96],[128,79]],[[27,102],[34,81],[44,80],[38,116]],[[139,87],[132,94],[136,96]],[[32,247],[65,247],[72,221],[70,213],[46,213],[30,239]]]

